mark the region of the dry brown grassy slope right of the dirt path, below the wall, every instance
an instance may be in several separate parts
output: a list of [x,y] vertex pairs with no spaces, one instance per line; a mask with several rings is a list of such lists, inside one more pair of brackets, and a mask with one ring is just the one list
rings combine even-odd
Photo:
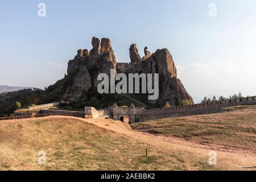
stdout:
[[[213,150],[256,155],[256,106],[235,106],[223,113],[135,123],[134,130],[203,144]],[[256,162],[255,162],[256,166]]]

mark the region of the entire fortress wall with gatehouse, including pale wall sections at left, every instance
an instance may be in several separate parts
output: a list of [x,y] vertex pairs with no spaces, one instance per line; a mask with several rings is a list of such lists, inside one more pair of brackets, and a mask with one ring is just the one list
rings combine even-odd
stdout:
[[[183,117],[188,115],[198,115],[198,114],[210,114],[218,113],[220,111],[225,111],[223,108],[240,106],[240,105],[256,105],[256,96],[245,97],[236,100],[226,100],[221,102],[208,102],[205,104],[193,104],[185,106],[175,106],[169,108],[159,108],[159,109],[147,109],[144,107],[135,107],[133,104],[131,106],[113,106],[106,107],[104,110],[96,110],[94,107],[85,107],[85,111],[68,111],[68,110],[48,110],[41,109],[51,106],[55,106],[59,102],[54,102],[51,104],[44,104],[39,106],[34,106],[32,109],[39,109],[38,113],[15,111],[15,117],[28,116],[33,114],[60,114],[60,115],[72,115],[74,117],[81,118],[94,118],[94,119],[114,119],[123,122],[145,122],[154,119],[161,118],[171,118],[171,117]],[[31,107],[30,107],[31,109]]]

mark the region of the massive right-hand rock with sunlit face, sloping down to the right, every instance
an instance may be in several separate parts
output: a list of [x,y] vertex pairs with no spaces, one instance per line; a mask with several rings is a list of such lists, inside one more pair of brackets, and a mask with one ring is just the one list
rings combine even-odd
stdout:
[[[149,55],[147,47],[145,56]],[[158,100],[149,100],[152,104],[164,105],[167,101],[172,106],[181,105],[182,100],[189,100],[193,104],[193,99],[185,90],[181,81],[177,78],[177,71],[168,49],[158,49],[152,53],[142,63],[143,73],[159,74],[159,98]]]

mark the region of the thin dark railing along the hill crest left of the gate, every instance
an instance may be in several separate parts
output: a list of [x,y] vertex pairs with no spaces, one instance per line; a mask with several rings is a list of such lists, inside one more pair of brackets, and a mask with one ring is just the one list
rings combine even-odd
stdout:
[[13,117],[3,117],[3,118],[0,118],[0,121],[13,120],[13,119],[42,118],[42,117],[48,117],[51,115],[63,115],[63,116],[84,118],[84,115],[77,114],[77,113],[49,113],[49,114],[32,114],[32,115],[30,114],[30,115],[19,115],[19,116],[13,116]]

